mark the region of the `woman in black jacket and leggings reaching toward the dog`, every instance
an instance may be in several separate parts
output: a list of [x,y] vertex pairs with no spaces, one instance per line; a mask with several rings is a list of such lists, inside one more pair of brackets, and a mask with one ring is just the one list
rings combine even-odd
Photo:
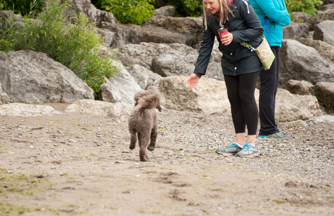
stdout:
[[[221,65],[236,134],[235,143],[217,149],[216,152],[240,157],[259,156],[255,144],[258,109],[254,92],[259,72],[263,67],[257,54],[240,43],[246,42],[252,47],[258,47],[263,28],[247,0],[203,0],[203,6],[203,42],[194,73],[187,80],[189,87],[197,86],[198,80],[206,74],[216,37],[219,50],[223,54]],[[222,25],[228,28],[229,32],[221,40],[217,30]]]

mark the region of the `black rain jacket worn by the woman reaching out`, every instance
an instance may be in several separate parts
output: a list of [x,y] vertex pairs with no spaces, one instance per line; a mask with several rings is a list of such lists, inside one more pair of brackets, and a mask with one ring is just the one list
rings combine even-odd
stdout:
[[220,16],[218,14],[208,15],[207,29],[205,29],[203,16],[203,41],[194,70],[199,77],[206,74],[215,37],[219,42],[218,49],[223,54],[221,57],[223,74],[237,76],[263,69],[257,54],[240,44],[246,42],[255,48],[261,44],[263,28],[251,3],[247,0],[233,0],[229,6],[234,15],[233,17],[230,14],[229,20],[224,24],[224,27],[227,27],[228,31],[233,34],[233,41],[229,45],[221,43],[217,32],[221,28]]

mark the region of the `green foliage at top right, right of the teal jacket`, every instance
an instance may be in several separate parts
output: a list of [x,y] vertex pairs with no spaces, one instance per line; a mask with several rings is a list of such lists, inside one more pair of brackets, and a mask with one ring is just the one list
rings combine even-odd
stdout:
[[285,0],[286,9],[289,13],[304,12],[312,17],[317,13],[316,6],[323,4],[322,0]]

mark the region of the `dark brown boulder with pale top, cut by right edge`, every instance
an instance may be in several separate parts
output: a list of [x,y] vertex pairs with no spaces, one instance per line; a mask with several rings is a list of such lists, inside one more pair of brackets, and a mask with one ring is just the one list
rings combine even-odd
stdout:
[[334,82],[318,82],[313,89],[319,104],[334,114]]

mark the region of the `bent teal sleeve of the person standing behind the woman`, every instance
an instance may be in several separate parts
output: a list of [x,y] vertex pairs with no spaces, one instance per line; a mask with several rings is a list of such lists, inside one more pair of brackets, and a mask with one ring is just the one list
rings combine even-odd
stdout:
[[[255,1],[257,2],[257,5],[261,8],[261,10],[273,22],[283,22],[284,21],[286,23],[286,17],[290,17],[286,8],[285,10],[277,10],[275,8],[273,0],[255,0]],[[283,5],[285,7],[285,4]],[[282,25],[282,26],[285,26],[285,25]]]

